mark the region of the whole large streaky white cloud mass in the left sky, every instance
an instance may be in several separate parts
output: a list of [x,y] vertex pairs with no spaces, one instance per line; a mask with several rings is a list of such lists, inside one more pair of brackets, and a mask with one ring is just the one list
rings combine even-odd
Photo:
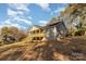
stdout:
[[9,9],[8,9],[8,20],[4,21],[4,23],[2,24],[2,26],[8,25],[8,26],[15,26],[19,28],[26,28],[24,27],[24,25],[21,25],[20,23],[25,23],[32,25],[32,20],[33,17],[30,16],[25,16],[26,13],[29,13],[29,9],[27,8],[28,4],[22,4],[22,3],[12,3],[9,4]]

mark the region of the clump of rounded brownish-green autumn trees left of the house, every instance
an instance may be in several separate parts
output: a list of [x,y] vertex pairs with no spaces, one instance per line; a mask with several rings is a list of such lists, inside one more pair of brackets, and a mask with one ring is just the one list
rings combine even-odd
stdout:
[[14,26],[4,26],[1,28],[1,35],[3,36],[2,39],[4,41],[8,41],[8,39],[9,41],[12,41],[13,39],[15,39],[15,41],[20,41],[27,36],[27,33],[26,30],[19,29]]

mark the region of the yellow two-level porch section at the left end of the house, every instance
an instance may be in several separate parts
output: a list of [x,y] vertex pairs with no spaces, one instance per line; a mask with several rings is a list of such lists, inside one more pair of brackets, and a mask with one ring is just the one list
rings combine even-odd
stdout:
[[46,36],[41,26],[33,25],[28,31],[29,41],[40,41]]

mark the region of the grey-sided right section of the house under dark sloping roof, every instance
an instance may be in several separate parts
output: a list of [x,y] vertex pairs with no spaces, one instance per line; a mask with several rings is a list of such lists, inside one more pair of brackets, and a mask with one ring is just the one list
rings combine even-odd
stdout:
[[56,40],[57,38],[65,37],[67,29],[63,21],[58,21],[56,17],[46,26],[47,38]]

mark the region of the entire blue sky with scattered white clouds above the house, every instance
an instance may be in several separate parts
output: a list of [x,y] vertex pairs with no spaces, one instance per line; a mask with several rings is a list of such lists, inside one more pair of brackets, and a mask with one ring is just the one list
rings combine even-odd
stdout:
[[28,28],[32,25],[46,25],[57,17],[66,3],[0,3],[0,27],[10,25]]

